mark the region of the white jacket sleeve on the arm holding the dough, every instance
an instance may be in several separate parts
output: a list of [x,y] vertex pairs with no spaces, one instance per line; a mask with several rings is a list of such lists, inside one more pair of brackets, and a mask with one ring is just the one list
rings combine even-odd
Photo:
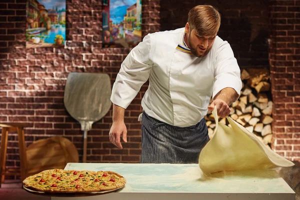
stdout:
[[226,87],[233,88],[240,95],[240,69],[229,43],[224,41],[217,50],[212,99]]

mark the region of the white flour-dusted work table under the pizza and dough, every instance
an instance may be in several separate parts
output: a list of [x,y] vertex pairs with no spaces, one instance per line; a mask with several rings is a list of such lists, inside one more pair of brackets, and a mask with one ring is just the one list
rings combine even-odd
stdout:
[[295,193],[275,170],[202,174],[197,164],[68,163],[75,170],[111,170],[126,178],[116,192],[84,197],[54,197],[52,200],[177,200],[255,199],[294,200]]

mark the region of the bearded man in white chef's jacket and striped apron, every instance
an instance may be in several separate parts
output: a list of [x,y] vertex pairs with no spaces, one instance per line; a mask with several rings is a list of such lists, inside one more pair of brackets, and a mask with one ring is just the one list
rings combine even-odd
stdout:
[[[210,5],[188,13],[184,28],[147,34],[121,64],[112,87],[110,141],[127,142],[124,110],[149,78],[141,106],[141,163],[197,163],[209,140],[204,116],[220,117],[241,90],[240,70],[227,41],[217,36],[220,14]],[[209,105],[210,97],[213,101]]]

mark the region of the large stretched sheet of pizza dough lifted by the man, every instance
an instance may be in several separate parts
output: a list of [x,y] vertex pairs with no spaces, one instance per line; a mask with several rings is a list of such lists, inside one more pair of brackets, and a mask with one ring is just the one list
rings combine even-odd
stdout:
[[216,107],[212,114],[216,122],[214,135],[199,155],[199,167],[204,174],[294,165],[265,146],[253,133],[229,116],[226,118],[231,127],[219,123]]

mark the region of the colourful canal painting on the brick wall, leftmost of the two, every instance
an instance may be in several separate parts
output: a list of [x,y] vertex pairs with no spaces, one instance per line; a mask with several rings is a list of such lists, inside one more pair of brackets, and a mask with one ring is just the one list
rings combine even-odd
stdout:
[[63,47],[65,0],[27,0],[26,48]]

